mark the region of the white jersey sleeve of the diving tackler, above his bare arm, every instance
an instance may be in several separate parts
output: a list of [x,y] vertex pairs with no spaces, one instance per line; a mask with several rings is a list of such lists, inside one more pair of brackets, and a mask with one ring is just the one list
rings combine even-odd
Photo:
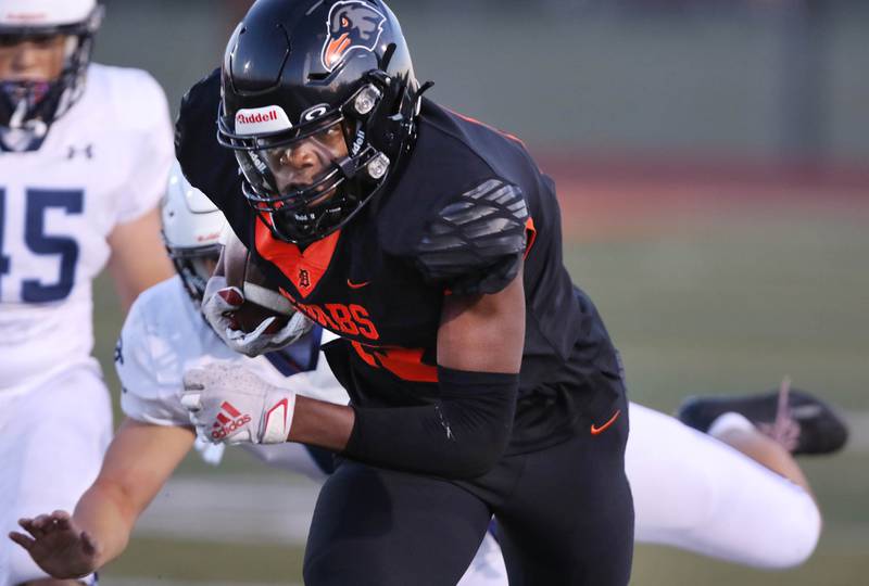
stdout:
[[[142,296],[130,307],[115,349],[115,370],[121,379],[121,408],[127,417],[156,425],[189,425],[187,411],[178,397],[180,378],[175,384],[158,379],[147,311]],[[169,379],[174,379],[171,377]]]

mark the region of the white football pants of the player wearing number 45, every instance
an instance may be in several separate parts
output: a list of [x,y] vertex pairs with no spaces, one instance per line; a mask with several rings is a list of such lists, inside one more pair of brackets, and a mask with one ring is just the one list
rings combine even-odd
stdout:
[[0,393],[0,586],[48,577],[7,534],[21,531],[22,517],[72,512],[111,437],[111,402],[96,367]]

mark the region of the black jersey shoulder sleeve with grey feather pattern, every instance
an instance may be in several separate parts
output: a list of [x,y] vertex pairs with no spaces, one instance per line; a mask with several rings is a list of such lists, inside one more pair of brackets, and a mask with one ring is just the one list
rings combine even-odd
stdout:
[[489,179],[441,209],[416,246],[416,264],[430,282],[453,293],[495,293],[519,270],[528,207],[522,192]]

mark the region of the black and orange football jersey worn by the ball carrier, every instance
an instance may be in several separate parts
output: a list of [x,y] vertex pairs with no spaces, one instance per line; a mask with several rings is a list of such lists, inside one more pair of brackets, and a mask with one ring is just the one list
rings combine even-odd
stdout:
[[[235,158],[219,152],[213,136],[217,92],[209,84],[200,90],[212,97],[198,98],[194,87],[181,111],[179,131],[189,135],[178,149],[185,174],[224,212],[285,295],[341,336],[325,351],[354,404],[437,400],[444,296],[498,291],[524,260],[526,315],[516,319],[526,321],[526,340],[508,453],[561,442],[589,416],[609,417],[620,385],[616,352],[563,266],[554,183],[520,141],[424,100],[416,143],[400,175],[340,231],[300,250],[275,239],[244,202]],[[191,107],[197,100],[202,107]],[[211,124],[197,124],[198,115]],[[524,220],[521,250],[511,249],[515,222],[503,228],[506,247],[495,245],[494,257],[474,250],[474,233],[456,239],[444,228],[445,217],[461,224],[476,217],[479,205],[503,205]],[[501,226],[487,226],[490,243]]]

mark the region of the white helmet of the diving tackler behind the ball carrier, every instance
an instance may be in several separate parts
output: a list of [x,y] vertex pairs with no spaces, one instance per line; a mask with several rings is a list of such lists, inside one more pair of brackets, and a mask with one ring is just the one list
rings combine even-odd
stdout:
[[211,277],[209,260],[216,262],[223,249],[226,219],[205,194],[187,181],[177,161],[169,173],[161,212],[163,242],[175,270],[193,301],[200,302]]

